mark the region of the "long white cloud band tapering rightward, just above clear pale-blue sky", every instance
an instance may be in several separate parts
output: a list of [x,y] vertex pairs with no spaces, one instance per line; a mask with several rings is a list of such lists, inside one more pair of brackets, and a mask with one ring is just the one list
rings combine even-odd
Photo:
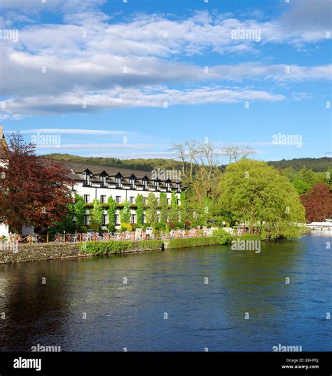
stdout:
[[[98,94],[81,92],[53,97],[25,97],[5,101],[4,112],[8,116],[17,113],[24,116],[46,115],[50,113],[90,112],[99,109],[123,109],[132,107],[165,107],[177,104],[195,105],[211,103],[237,103],[244,101],[275,102],[284,99],[283,95],[273,95],[261,90],[225,89],[218,85],[191,88],[187,90],[153,90],[117,87]],[[83,108],[83,106],[85,106]]]

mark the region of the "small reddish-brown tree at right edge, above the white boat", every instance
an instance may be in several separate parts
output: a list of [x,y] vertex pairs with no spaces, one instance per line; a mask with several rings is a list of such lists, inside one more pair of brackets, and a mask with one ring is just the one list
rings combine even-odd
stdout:
[[332,216],[332,193],[325,183],[319,183],[300,196],[308,222],[320,222]]

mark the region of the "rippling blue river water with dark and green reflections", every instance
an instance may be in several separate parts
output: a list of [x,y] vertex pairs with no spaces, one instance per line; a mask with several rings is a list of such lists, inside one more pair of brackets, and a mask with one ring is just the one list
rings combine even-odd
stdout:
[[0,347],[331,351],[326,242],[325,233],[267,242],[261,253],[209,246],[0,265]]

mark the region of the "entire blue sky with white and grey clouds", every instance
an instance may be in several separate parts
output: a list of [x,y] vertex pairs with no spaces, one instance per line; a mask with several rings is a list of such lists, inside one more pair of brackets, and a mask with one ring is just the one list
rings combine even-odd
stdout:
[[1,0],[0,123],[39,154],[331,156],[332,0]]

